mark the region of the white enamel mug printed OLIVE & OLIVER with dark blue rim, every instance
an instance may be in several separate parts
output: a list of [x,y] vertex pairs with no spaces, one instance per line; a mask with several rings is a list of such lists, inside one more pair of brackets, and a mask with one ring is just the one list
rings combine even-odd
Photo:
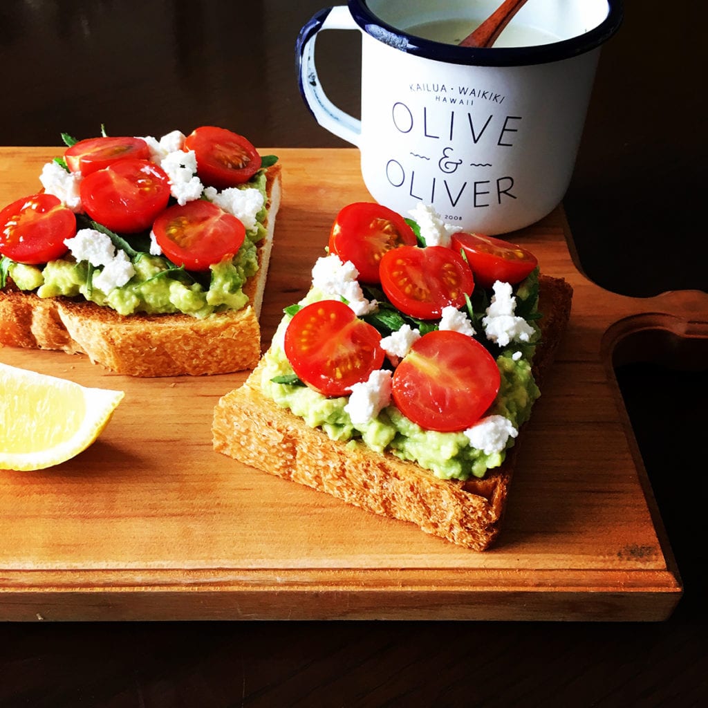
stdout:
[[[600,47],[619,27],[622,3],[530,0],[497,44],[514,32],[524,44],[536,30],[551,35],[539,45],[471,49],[406,31],[443,17],[474,28],[498,4],[349,0],[302,28],[304,101],[322,127],[358,147],[377,202],[403,215],[424,202],[445,221],[490,235],[526,227],[561,202]],[[362,35],[360,119],[333,105],[320,84],[315,44],[323,30]]]

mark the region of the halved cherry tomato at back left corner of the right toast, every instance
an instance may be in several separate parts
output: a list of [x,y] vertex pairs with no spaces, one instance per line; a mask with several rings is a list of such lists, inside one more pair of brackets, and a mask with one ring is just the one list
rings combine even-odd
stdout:
[[329,235],[329,251],[351,261],[363,282],[379,283],[379,263],[387,251],[415,246],[416,234],[406,220],[388,207],[355,202],[338,213]]

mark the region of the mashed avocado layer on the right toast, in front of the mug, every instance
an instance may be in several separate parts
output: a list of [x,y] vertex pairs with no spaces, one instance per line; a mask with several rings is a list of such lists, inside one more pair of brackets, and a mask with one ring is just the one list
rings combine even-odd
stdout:
[[[529,306],[530,319],[537,315],[537,271],[516,289],[518,299],[532,299]],[[308,304],[322,299],[316,289],[299,302]],[[289,409],[312,428],[321,428],[332,440],[341,440],[348,445],[367,445],[377,452],[391,452],[401,459],[411,460],[430,469],[442,479],[469,479],[482,477],[487,469],[498,467],[506,456],[506,449],[513,445],[509,439],[506,449],[487,454],[470,445],[462,432],[438,433],[424,430],[406,418],[394,405],[380,411],[379,415],[363,425],[354,425],[345,410],[348,398],[326,398],[307,386],[281,383],[283,377],[292,377],[293,371],[283,350],[285,329],[290,321],[287,314],[280,322],[273,343],[261,362],[261,389],[265,396],[278,406]],[[539,330],[534,324],[537,341]],[[484,340],[484,334],[481,337]],[[500,349],[491,343],[486,345],[496,355],[501,373],[501,386],[491,409],[486,415],[501,415],[518,428],[528,420],[539,389],[531,372],[534,347],[510,343]]]

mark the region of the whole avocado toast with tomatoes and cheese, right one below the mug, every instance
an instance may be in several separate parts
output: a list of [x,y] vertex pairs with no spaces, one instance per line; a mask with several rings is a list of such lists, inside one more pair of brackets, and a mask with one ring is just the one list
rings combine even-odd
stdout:
[[[418,237],[413,246],[410,234],[400,236],[404,226],[389,217],[384,213],[365,221],[377,223],[373,230],[378,235],[370,241],[386,242],[381,249],[385,257],[378,253],[374,260],[381,268],[389,262],[400,282],[408,282],[413,272],[409,266],[404,277],[406,269],[398,267],[408,256],[422,258],[418,264],[435,262],[435,273],[449,273],[445,263],[457,263],[459,277],[448,278],[450,287],[437,312],[426,311],[429,303],[421,311],[420,302],[413,303],[413,316],[411,303],[398,309],[392,300],[399,294],[386,276],[383,284],[352,279],[353,271],[365,271],[366,265],[360,253],[354,268],[341,260],[346,249],[336,236],[349,229],[340,228],[346,219],[338,217],[329,256],[313,270],[312,289],[286,310],[268,352],[245,384],[217,404],[215,449],[483,550],[500,530],[520,431],[569,319],[571,287],[539,275],[535,260],[526,263],[531,270],[513,285],[501,280],[491,287],[470,285],[457,260],[464,234],[450,238],[438,228],[444,243],[431,245],[433,234],[420,228],[427,217],[419,213],[412,223]],[[387,234],[383,239],[382,231]],[[352,232],[362,234],[362,227]],[[486,248],[489,239],[485,243]],[[476,268],[473,249],[460,251],[466,253],[463,263],[472,263],[469,270],[476,271],[476,280],[486,282],[489,273]],[[443,260],[430,261],[431,256]],[[332,265],[336,275],[323,275]],[[435,278],[426,281],[422,272],[409,278],[417,290],[404,290],[421,301],[426,300],[423,283],[430,286],[428,292],[438,287]],[[340,314],[341,303],[358,314]],[[514,314],[515,309],[524,316]],[[503,327],[496,319],[502,316],[507,318]],[[310,355],[305,356],[308,345]],[[464,355],[456,358],[457,351]],[[467,367],[470,360],[474,366]]]

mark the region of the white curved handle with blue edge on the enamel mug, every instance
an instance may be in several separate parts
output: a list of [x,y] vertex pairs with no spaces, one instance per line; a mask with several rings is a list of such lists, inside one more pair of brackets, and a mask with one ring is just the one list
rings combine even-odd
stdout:
[[300,93],[310,113],[322,127],[359,147],[361,121],[337,108],[322,89],[314,65],[314,45],[321,30],[358,30],[346,5],[320,10],[297,37],[296,59]]

